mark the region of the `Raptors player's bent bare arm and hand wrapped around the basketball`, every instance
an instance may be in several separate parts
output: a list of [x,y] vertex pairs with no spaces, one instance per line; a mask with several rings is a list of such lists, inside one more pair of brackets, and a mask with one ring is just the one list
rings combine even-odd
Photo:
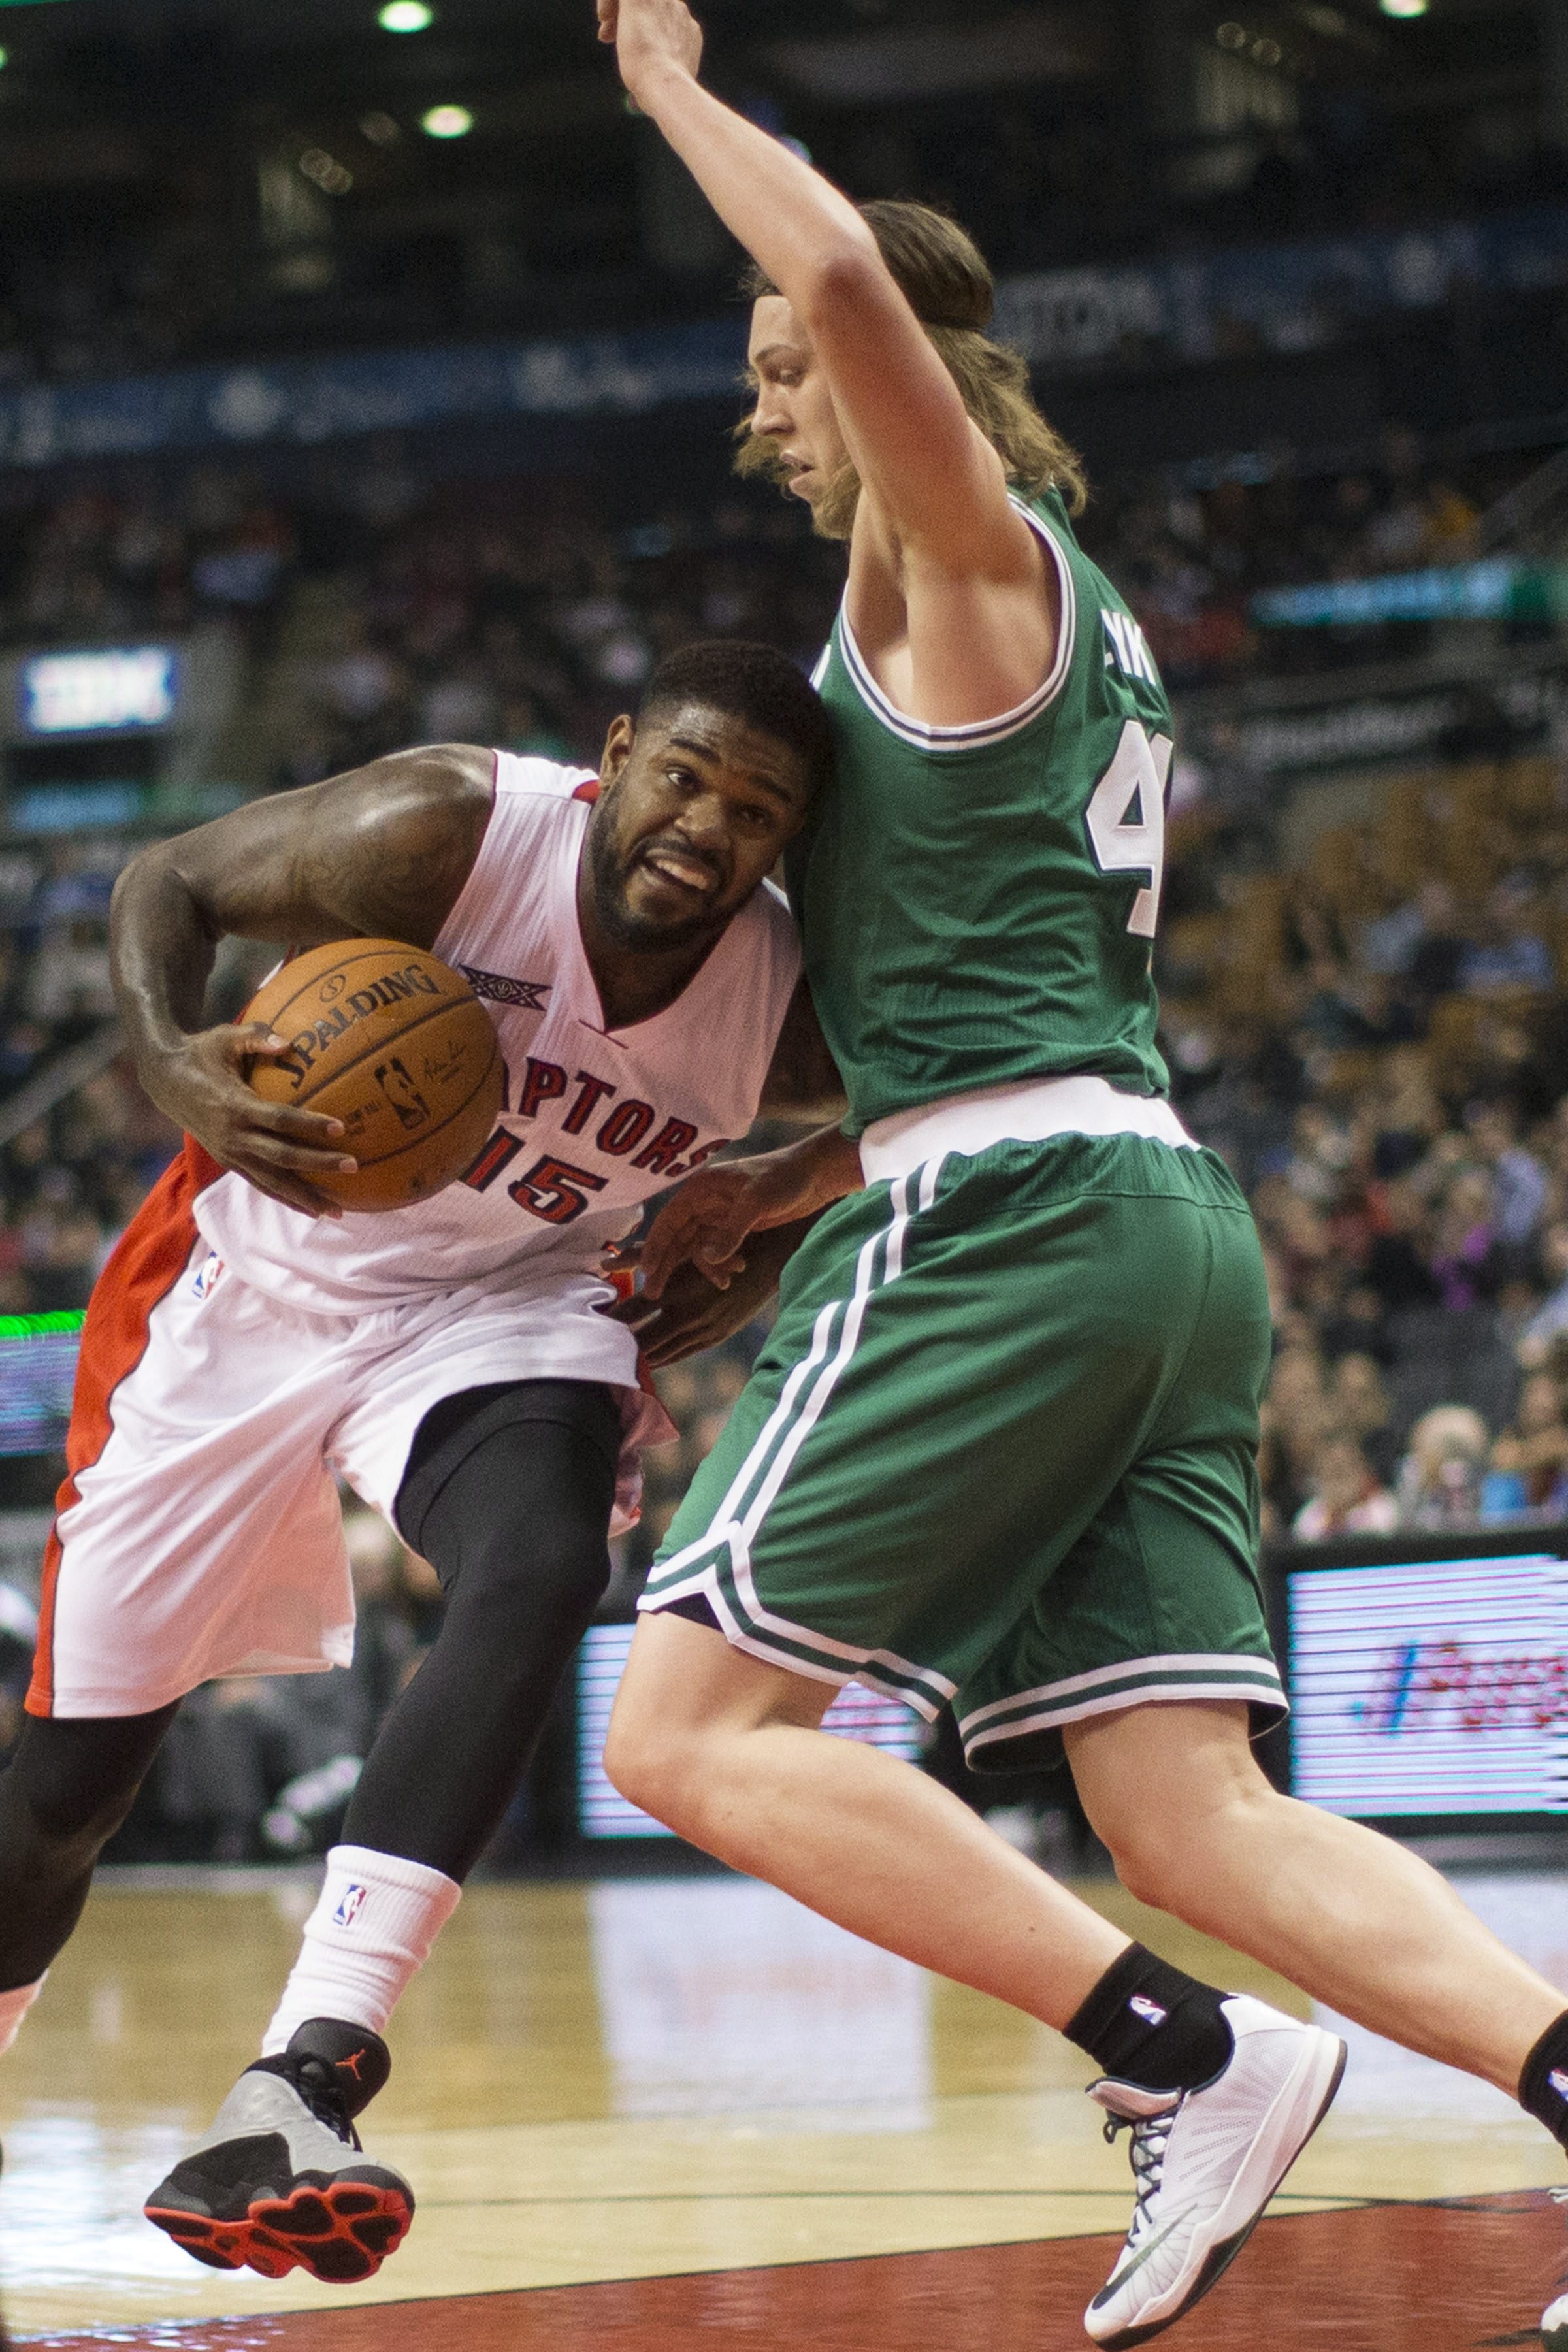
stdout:
[[310,1178],[353,1169],[343,1127],[247,1087],[244,1063],[284,1040],[256,1023],[202,1028],[216,943],[433,946],[484,837],[491,757],[437,746],[374,760],[158,842],[115,884],[115,997],[141,1084],[214,1160],[306,1216],[339,1214]]

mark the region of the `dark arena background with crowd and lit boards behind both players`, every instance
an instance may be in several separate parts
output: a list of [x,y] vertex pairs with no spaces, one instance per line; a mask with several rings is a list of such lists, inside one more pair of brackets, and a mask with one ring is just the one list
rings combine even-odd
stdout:
[[[588,16],[0,0],[7,1740],[75,1319],[176,1150],[120,1051],[120,866],[404,743],[592,764],[670,647],[809,663],[827,630],[839,553],[729,473],[738,249]],[[856,198],[976,233],[1173,694],[1164,1042],[1276,1305],[1265,1526],[1302,1703],[1274,1769],[1552,1872],[1568,0],[710,0],[705,24],[748,115]],[[266,960],[226,950],[214,1007]],[[651,1456],[496,1872],[698,1867],[639,1835],[592,1736],[757,1336],[661,1381],[682,1444]],[[197,1693],[110,1853],[125,1886],[331,1842],[437,1609],[348,1515],[353,1672]],[[914,1748],[898,1710],[860,1729]],[[929,1764],[1093,1870],[1060,1783],[969,1780],[945,1731]]]

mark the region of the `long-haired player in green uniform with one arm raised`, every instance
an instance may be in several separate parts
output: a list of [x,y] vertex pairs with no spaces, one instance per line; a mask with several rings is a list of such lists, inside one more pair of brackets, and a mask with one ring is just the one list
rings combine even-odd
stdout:
[[922,207],[858,214],[698,85],[684,0],[599,0],[623,80],[757,263],[757,449],[849,536],[799,861],[844,1131],[698,1176],[644,1270],[724,1277],[825,1214],[644,1597],[607,1766],[738,1870],[1060,2027],[1133,2131],[1088,2333],[1225,2270],[1342,2046],[1166,1966],[959,1799],[823,1738],[858,1677],[978,1764],[1060,1752],[1124,1882],[1568,2140],[1563,1994],[1403,1849],[1276,1795],[1255,1578],[1269,1310],[1225,1167],[1166,1103],[1150,941],[1171,715],[1081,555],[1077,468]]

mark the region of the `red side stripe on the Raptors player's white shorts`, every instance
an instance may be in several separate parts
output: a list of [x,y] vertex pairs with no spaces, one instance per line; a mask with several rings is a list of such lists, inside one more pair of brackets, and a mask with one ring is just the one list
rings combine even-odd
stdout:
[[75,1364],[71,1397],[71,1432],[66,1437],[66,1479],[54,1496],[54,1526],[45,1548],[42,1597],[38,1604],[38,1653],[26,1696],[28,1715],[54,1712],[54,1588],[59,1585],[59,1522],[78,1496],[78,1477],[103,1454],[113,1430],[113,1397],[120,1381],[141,1362],[148,1348],[153,1308],[179,1282],[195,1244],[195,1200],[223,1174],[212,1152],[186,1136],[179,1160],[162,1171],[141,1209],[129,1221],[108,1265],[99,1275],[87,1319],[82,1352]]

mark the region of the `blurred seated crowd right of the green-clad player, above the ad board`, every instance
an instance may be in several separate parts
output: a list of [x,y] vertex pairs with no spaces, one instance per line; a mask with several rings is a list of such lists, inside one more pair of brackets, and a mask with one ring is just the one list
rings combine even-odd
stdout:
[[1406,776],[1295,875],[1178,873],[1175,1094],[1274,1296],[1269,1536],[1568,1510],[1566,948],[1556,753]]

